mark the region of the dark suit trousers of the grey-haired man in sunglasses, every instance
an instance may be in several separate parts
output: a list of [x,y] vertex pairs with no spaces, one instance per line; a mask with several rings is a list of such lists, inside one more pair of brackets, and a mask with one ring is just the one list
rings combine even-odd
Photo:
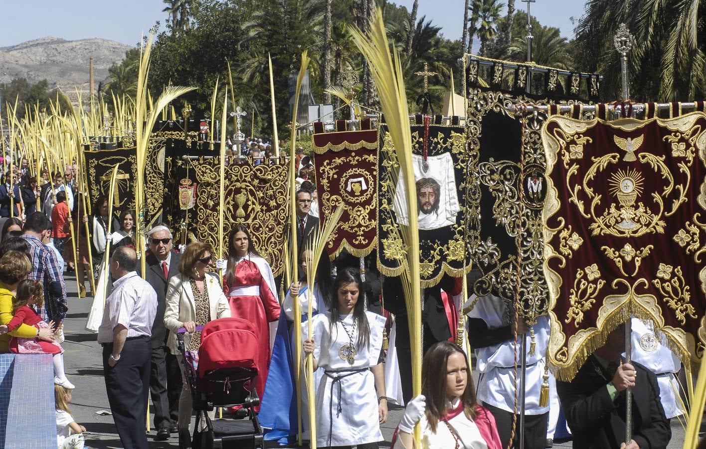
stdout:
[[155,429],[177,425],[181,372],[179,362],[166,346],[152,347],[150,363],[150,397],[155,412]]

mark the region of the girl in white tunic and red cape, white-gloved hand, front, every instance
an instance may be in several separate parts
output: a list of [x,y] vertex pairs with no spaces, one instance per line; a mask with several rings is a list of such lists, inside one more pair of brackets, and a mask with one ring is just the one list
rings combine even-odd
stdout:
[[412,438],[417,423],[425,449],[502,449],[495,418],[477,403],[470,373],[468,358],[455,343],[430,347],[422,365],[422,394],[407,404],[393,449],[417,447]]

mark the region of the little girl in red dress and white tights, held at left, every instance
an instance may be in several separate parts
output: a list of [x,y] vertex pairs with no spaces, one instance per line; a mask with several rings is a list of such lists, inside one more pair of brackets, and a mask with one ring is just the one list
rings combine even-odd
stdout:
[[[13,300],[13,317],[6,325],[0,325],[0,334],[12,332],[20,324],[35,326],[35,328],[50,328],[54,322],[47,324],[39,316],[35,308],[44,306],[42,284],[37,281],[25,279],[17,287],[17,296]],[[10,351],[16,354],[54,354],[54,383],[64,388],[76,388],[69,382],[64,374],[64,348],[56,341],[45,342],[38,338],[12,337]]]

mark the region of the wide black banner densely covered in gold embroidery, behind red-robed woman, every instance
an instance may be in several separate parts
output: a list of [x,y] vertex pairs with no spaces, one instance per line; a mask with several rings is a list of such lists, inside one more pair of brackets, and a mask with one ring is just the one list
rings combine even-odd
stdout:
[[[234,224],[244,224],[253,247],[270,263],[274,275],[280,275],[285,269],[287,165],[232,162],[225,167],[225,179],[221,181],[218,157],[200,157],[190,162],[198,183],[193,217],[198,241],[208,242],[214,249],[220,244],[228,248],[227,241],[218,241],[218,212],[223,208],[224,238]],[[221,182],[225,185],[225,203],[218,204]]]

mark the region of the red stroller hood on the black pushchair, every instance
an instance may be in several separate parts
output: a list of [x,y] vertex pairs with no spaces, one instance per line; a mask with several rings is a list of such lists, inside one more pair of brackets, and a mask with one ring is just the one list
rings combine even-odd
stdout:
[[210,321],[201,331],[198,376],[203,378],[214,369],[258,369],[259,353],[255,327],[249,321],[241,318]]

